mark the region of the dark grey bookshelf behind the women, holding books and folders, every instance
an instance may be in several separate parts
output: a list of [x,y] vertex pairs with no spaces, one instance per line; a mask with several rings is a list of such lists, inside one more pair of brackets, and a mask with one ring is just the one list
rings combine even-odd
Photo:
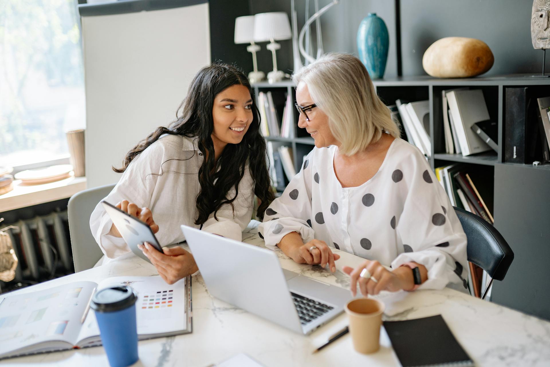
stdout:
[[[527,74],[525,74],[527,75]],[[550,164],[504,162],[504,103],[507,87],[529,86],[548,91],[550,78],[529,78],[524,74],[489,76],[465,79],[436,79],[431,76],[400,76],[373,80],[378,96],[386,105],[395,104],[401,98],[408,101],[430,101],[431,157],[427,160],[432,169],[455,162],[464,163],[486,173],[489,201],[493,202],[494,226],[513,249],[515,259],[503,282],[494,282],[491,294],[493,302],[518,309],[527,314],[550,320]],[[480,154],[462,156],[445,152],[441,91],[456,87],[478,88],[483,91],[489,116],[498,123],[498,149]],[[255,94],[271,90],[278,94],[292,93],[292,81],[276,84],[257,83]],[[281,107],[282,112],[282,107]],[[295,111],[295,122],[298,112]],[[300,134],[296,128],[296,132]],[[282,141],[293,147],[296,172],[303,155],[313,149],[313,139],[304,135],[296,138],[267,137],[266,140]],[[490,197],[492,196],[492,197]],[[492,199],[492,200],[491,200]]]

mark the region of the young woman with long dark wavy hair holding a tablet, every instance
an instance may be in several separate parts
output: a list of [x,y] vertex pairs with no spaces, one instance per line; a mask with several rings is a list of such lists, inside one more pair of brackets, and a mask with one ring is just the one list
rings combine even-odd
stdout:
[[[130,150],[122,168],[113,167],[122,177],[105,200],[149,224],[163,246],[184,240],[180,224],[240,241],[254,195],[260,218],[273,200],[248,79],[231,65],[202,68],[176,116]],[[90,227],[106,258],[130,253],[99,204]],[[142,250],[169,284],[197,271],[193,255],[180,247]]]

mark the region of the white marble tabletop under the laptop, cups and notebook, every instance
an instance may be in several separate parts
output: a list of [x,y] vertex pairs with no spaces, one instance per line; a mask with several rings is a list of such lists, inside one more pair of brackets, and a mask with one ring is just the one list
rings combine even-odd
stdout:
[[[256,223],[257,224],[257,223]],[[254,224],[243,234],[245,242],[263,246]],[[319,266],[295,264],[278,251],[284,269],[316,280],[349,288],[344,265],[356,266],[362,259],[336,251],[335,274]],[[155,267],[129,256],[126,259],[37,284],[18,292],[45,289],[81,280],[99,282],[112,276],[148,276]],[[351,296],[350,296],[351,297]],[[393,316],[386,320],[416,319],[441,314],[456,339],[479,366],[549,366],[550,322],[445,288],[392,294],[384,299]],[[344,314],[329,324],[302,336],[213,298],[200,275],[193,277],[193,333],[139,342],[140,360],[135,366],[205,367],[246,353],[265,366],[398,366],[389,339],[382,328],[381,349],[371,355],[356,353],[348,335],[320,353],[311,351],[328,335],[347,324]],[[422,342],[418,340],[416,342]],[[103,347],[69,350],[1,360],[2,366],[108,366]]]

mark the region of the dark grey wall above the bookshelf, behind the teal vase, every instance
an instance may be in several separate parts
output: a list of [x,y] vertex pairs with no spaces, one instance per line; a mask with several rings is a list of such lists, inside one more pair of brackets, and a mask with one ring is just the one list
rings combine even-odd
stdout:
[[[310,1],[313,6],[313,0]],[[320,0],[320,7],[329,0]],[[249,0],[250,14],[287,12],[290,0]],[[326,52],[351,52],[357,55],[357,28],[368,13],[377,13],[388,27],[389,56],[386,78],[398,75],[396,3],[400,13],[402,75],[425,75],[422,56],[426,48],[443,37],[480,39],[491,48],[494,65],[485,75],[540,73],[542,51],[531,45],[532,0],[341,0],[321,17],[323,47]],[[296,0],[298,26],[305,23],[305,0]],[[310,14],[312,14],[311,12]],[[312,28],[313,35],[315,29]],[[315,40],[315,37],[313,37]],[[281,41],[277,52],[279,69],[292,71],[292,42]],[[271,52],[261,43],[259,68],[272,69]],[[546,67],[550,71],[550,53]]]

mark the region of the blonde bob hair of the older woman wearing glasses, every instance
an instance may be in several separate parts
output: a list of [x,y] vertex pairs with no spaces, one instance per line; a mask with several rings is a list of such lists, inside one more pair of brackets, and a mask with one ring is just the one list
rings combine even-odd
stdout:
[[347,53],[327,53],[292,75],[307,84],[313,103],[328,116],[328,127],[344,155],[376,143],[382,133],[400,136],[389,108],[378,98],[365,65]]

